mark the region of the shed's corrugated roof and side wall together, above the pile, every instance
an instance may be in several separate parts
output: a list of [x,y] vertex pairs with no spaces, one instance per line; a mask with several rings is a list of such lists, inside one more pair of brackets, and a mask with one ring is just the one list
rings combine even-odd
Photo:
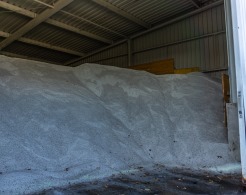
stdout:
[[[222,0],[1,0],[0,53],[53,64],[227,70]],[[42,16],[43,15],[43,16]]]

